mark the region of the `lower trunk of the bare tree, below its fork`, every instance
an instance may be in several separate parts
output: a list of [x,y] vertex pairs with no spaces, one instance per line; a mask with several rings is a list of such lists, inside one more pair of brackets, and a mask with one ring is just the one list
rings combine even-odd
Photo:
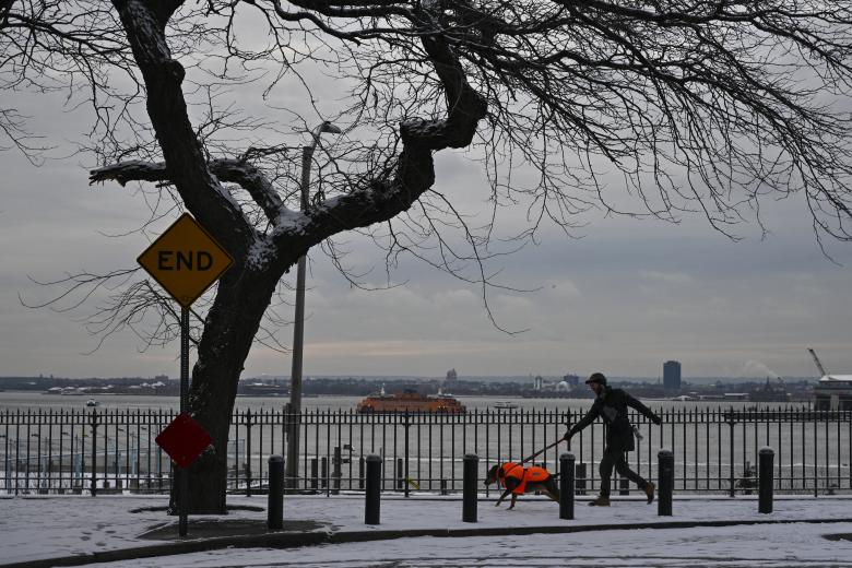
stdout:
[[[224,514],[227,448],[237,382],[279,274],[234,267],[220,283],[192,369],[189,411],[213,438],[213,451],[190,466],[189,511]],[[239,464],[237,464],[239,466]]]

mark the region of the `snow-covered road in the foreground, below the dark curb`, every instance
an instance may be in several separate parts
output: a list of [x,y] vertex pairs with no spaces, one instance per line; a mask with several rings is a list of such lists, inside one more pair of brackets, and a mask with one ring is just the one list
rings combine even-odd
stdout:
[[[844,524],[841,530],[852,530]],[[298,549],[222,549],[98,567],[815,567],[852,566],[852,543],[823,539],[808,524],[517,537],[400,539]]]

